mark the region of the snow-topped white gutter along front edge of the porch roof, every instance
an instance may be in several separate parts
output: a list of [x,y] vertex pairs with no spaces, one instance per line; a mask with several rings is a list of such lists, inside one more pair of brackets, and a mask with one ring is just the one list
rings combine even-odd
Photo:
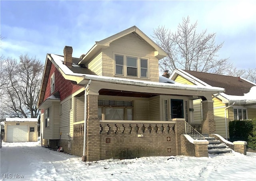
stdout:
[[127,79],[104,77],[104,76],[98,76],[98,75],[84,75],[83,78],[84,80],[94,80],[94,81],[102,81],[102,82],[123,84],[123,85],[135,85],[135,86],[142,86],[142,87],[156,87],[156,88],[165,88],[165,89],[173,88],[178,90],[205,91],[205,92],[224,92],[225,91],[225,89],[220,87],[206,88],[205,86],[198,87],[194,85],[185,86],[185,85],[175,85],[175,84],[167,84],[167,83],[154,83],[150,81],[138,81],[138,80],[130,80],[130,79],[127,80]]

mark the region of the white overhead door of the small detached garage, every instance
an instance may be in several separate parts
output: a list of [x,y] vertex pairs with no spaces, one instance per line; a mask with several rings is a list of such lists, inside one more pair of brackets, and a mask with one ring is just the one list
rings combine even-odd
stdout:
[[7,126],[7,142],[28,142],[28,126]]

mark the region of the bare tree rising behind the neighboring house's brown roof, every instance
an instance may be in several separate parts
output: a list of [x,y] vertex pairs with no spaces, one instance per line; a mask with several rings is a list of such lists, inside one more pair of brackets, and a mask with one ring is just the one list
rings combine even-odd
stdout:
[[217,59],[218,51],[223,42],[215,43],[216,33],[196,32],[197,22],[190,25],[189,17],[183,18],[178,30],[172,33],[164,26],[153,31],[156,43],[168,53],[160,60],[159,66],[163,71],[176,68],[223,74],[232,64],[228,59]]

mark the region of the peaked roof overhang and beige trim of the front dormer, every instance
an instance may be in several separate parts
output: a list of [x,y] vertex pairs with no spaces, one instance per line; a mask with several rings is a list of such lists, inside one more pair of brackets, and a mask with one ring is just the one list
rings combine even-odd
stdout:
[[147,35],[145,35],[140,29],[138,29],[136,26],[132,26],[131,28],[128,28],[124,31],[121,31],[119,33],[116,33],[110,37],[107,37],[105,39],[102,39],[101,41],[96,41],[95,45],[86,53],[86,55],[82,58],[82,60],[79,62],[80,65],[85,65],[86,61],[90,60],[90,58],[98,52],[100,49],[104,49],[110,46],[110,43],[115,41],[116,39],[119,39],[121,37],[124,37],[125,35],[128,35],[130,33],[135,32],[137,35],[139,35],[146,43],[148,43],[150,46],[152,46],[155,50],[155,57],[158,59],[162,59],[167,56],[167,53],[160,48],[152,39],[150,39]]

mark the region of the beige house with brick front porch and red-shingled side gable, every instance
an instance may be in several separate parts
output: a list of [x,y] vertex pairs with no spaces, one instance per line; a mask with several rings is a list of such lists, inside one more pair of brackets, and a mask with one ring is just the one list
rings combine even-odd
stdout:
[[72,51],[46,55],[38,98],[44,146],[87,161],[180,155],[195,97],[212,112],[203,113],[203,132],[215,132],[212,94],[224,89],[159,77],[167,54],[136,26],[96,41],[80,58]]

